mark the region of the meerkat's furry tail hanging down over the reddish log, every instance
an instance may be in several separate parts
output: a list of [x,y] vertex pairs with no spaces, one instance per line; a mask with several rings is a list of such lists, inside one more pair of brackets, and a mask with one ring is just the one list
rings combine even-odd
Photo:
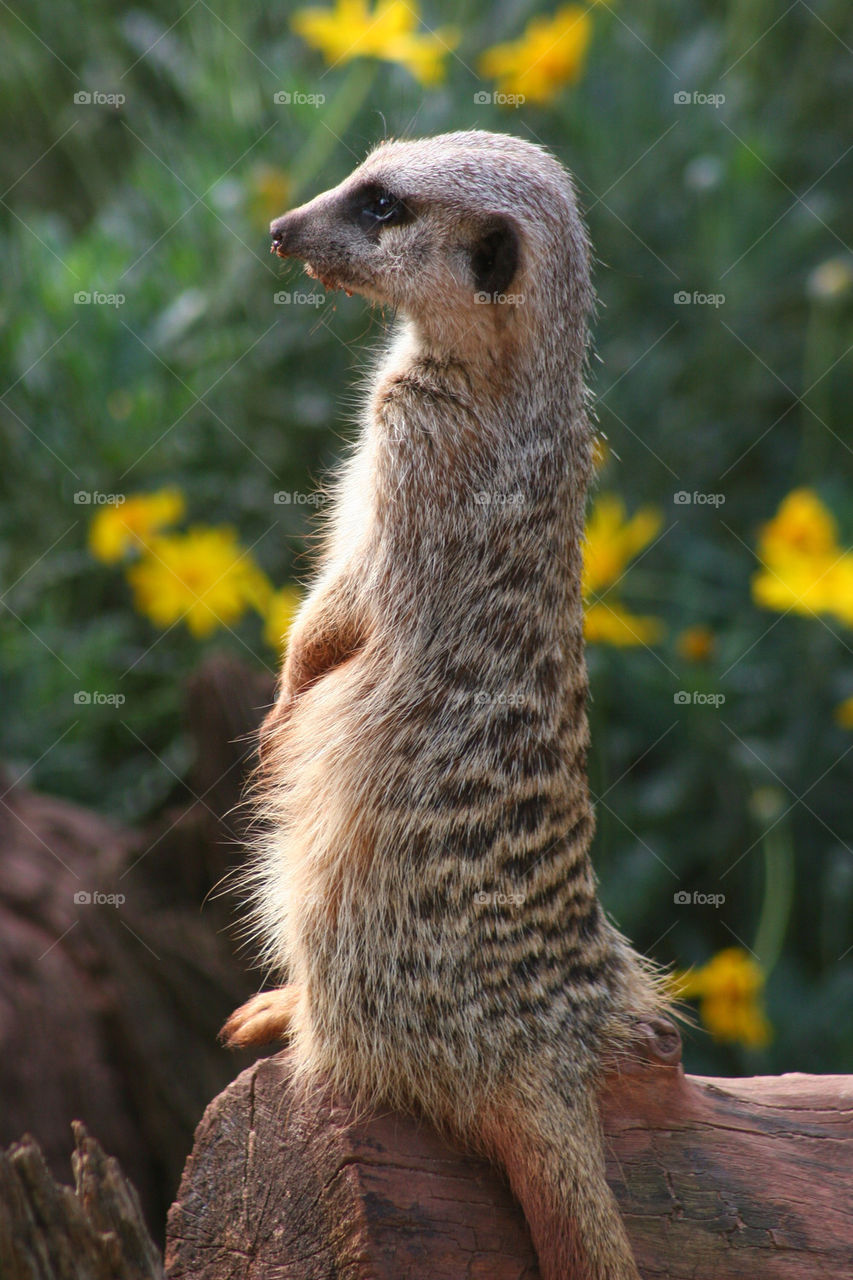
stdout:
[[589,1093],[547,1110],[515,1107],[487,1129],[491,1153],[524,1210],[542,1280],[640,1280],[605,1175],[601,1120]]

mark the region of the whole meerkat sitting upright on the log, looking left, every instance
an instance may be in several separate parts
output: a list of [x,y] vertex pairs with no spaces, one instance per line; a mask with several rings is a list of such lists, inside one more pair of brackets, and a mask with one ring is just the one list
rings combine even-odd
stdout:
[[589,859],[589,248],[506,134],[379,145],[273,251],[393,308],[261,730],[254,920],[287,986],[223,1028],[507,1174],[543,1280],[638,1280],[602,1073],[667,1007]]

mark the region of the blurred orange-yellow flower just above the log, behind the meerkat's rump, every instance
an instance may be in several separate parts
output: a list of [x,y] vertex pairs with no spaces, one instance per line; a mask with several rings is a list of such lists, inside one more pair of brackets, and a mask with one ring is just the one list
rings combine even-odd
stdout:
[[717,1041],[747,1048],[770,1043],[772,1028],[762,1006],[765,975],[742,947],[726,947],[701,969],[674,975],[676,998],[699,1001],[699,1016]]

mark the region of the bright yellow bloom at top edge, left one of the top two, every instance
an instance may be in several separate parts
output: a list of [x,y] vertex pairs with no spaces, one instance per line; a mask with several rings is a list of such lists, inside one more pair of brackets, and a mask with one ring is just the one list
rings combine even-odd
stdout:
[[300,9],[293,31],[327,63],[353,58],[380,58],[407,67],[421,84],[437,84],[444,77],[444,58],[459,44],[456,27],[418,32],[418,9],[407,0],[336,0],[334,9]]

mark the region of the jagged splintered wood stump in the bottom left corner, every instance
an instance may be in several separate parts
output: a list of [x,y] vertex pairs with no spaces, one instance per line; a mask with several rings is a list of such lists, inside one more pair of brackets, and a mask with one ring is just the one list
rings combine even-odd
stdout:
[[140,1198],[117,1160],[74,1125],[74,1188],[27,1137],[0,1152],[3,1280],[163,1280]]

